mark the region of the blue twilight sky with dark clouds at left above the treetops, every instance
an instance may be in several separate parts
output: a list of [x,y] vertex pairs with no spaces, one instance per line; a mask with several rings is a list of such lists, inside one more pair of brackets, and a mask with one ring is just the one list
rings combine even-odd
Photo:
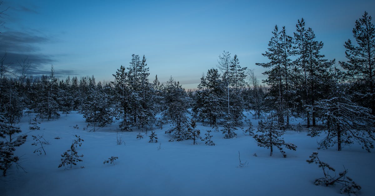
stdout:
[[375,17],[374,0],[4,0],[0,11],[7,7],[0,52],[15,64],[27,56],[30,74],[48,74],[53,64],[60,79],[94,75],[108,81],[139,54],[147,58],[150,81],[155,74],[161,82],[172,75],[186,89],[216,68],[223,50],[264,78],[255,63],[267,62],[261,53],[275,24],[292,36],[302,17],[324,42],[322,54],[345,60],[343,45],[353,40],[354,22],[364,11]]

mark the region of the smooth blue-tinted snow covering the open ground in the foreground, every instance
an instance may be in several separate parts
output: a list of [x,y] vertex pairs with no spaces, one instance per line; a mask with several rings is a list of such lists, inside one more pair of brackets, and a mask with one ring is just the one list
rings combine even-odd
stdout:
[[[23,133],[29,131],[28,120],[21,119]],[[258,120],[252,121],[256,129]],[[29,136],[15,152],[22,155],[21,165],[27,173],[17,171],[13,164],[6,177],[0,176],[1,195],[341,195],[340,185],[314,185],[315,178],[323,177],[317,165],[306,162],[314,151],[336,172],[344,170],[344,165],[348,176],[362,186],[360,195],[375,195],[375,154],[356,144],[345,146],[343,151],[335,147],[317,150],[318,138],[306,136],[306,132],[287,131],[284,139],[297,145],[297,151],[286,150],[288,157],[283,158],[277,149],[270,157],[269,149],[258,147],[241,130],[234,139],[211,132],[216,146],[207,146],[202,141],[199,145],[192,145],[192,140],[168,142],[170,137],[164,132],[169,125],[164,125],[162,130],[156,129],[159,143],[148,143],[148,136],[136,139],[138,132],[134,130],[120,132],[125,145],[117,145],[118,124],[96,132],[83,130],[86,125],[82,115],[72,112],[56,121],[43,121],[40,130],[28,133],[43,134],[49,140],[47,155],[33,153],[36,147]],[[201,123],[197,128],[203,138],[205,130],[210,129]],[[84,155],[83,162],[71,170],[58,168],[60,155],[69,149],[75,134],[84,139],[77,148],[78,154]],[[57,136],[60,139],[54,139]],[[245,167],[239,167],[238,151],[242,162],[248,163]],[[111,156],[118,157],[115,165],[103,164]]]

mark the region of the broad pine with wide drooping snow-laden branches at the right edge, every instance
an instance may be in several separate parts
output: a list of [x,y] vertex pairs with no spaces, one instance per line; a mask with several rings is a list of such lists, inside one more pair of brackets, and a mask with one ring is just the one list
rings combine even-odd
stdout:
[[324,114],[324,128],[312,129],[309,135],[314,137],[323,132],[326,134],[318,143],[319,148],[328,148],[337,144],[338,150],[341,151],[342,145],[357,142],[362,148],[370,151],[374,148],[375,118],[370,114],[370,109],[352,101],[352,95],[347,90],[345,73],[335,67],[332,69],[332,75],[332,93],[327,99],[313,106]]

